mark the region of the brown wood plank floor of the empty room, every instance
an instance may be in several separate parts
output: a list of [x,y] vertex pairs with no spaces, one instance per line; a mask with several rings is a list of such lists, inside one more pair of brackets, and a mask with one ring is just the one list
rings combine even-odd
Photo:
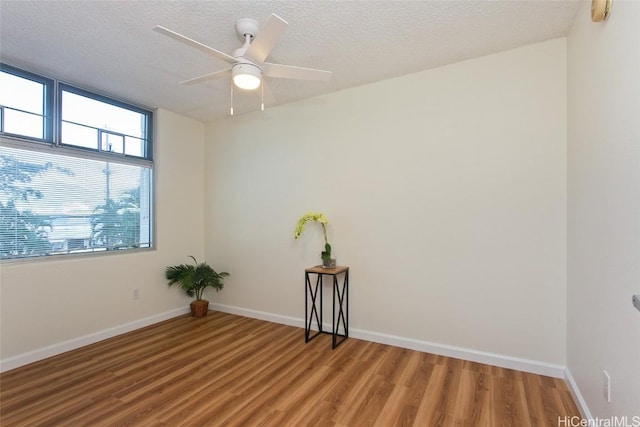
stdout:
[[221,312],[0,375],[0,425],[557,426],[560,379]]

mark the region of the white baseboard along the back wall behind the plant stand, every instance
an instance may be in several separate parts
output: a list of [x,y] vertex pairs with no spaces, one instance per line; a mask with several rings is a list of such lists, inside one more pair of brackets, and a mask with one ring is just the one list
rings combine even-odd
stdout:
[[[249,310],[241,307],[234,307],[224,304],[213,304],[213,309],[225,313],[237,314],[254,319],[266,320],[274,323],[281,323],[289,326],[304,328],[304,319],[281,316],[263,311]],[[331,330],[331,325],[323,326],[323,329]],[[524,372],[531,372],[538,375],[546,375],[554,378],[566,378],[566,368],[560,365],[540,362],[537,360],[522,359],[518,357],[506,356],[503,354],[488,353],[463,347],[455,347],[446,344],[438,344],[428,341],[420,341],[413,338],[387,335],[379,332],[365,331],[362,329],[349,328],[349,336],[365,341],[388,344],[410,350],[422,351],[425,353],[437,354],[440,356],[464,359],[472,362],[485,363],[487,365],[499,366],[501,368],[516,369]]]

